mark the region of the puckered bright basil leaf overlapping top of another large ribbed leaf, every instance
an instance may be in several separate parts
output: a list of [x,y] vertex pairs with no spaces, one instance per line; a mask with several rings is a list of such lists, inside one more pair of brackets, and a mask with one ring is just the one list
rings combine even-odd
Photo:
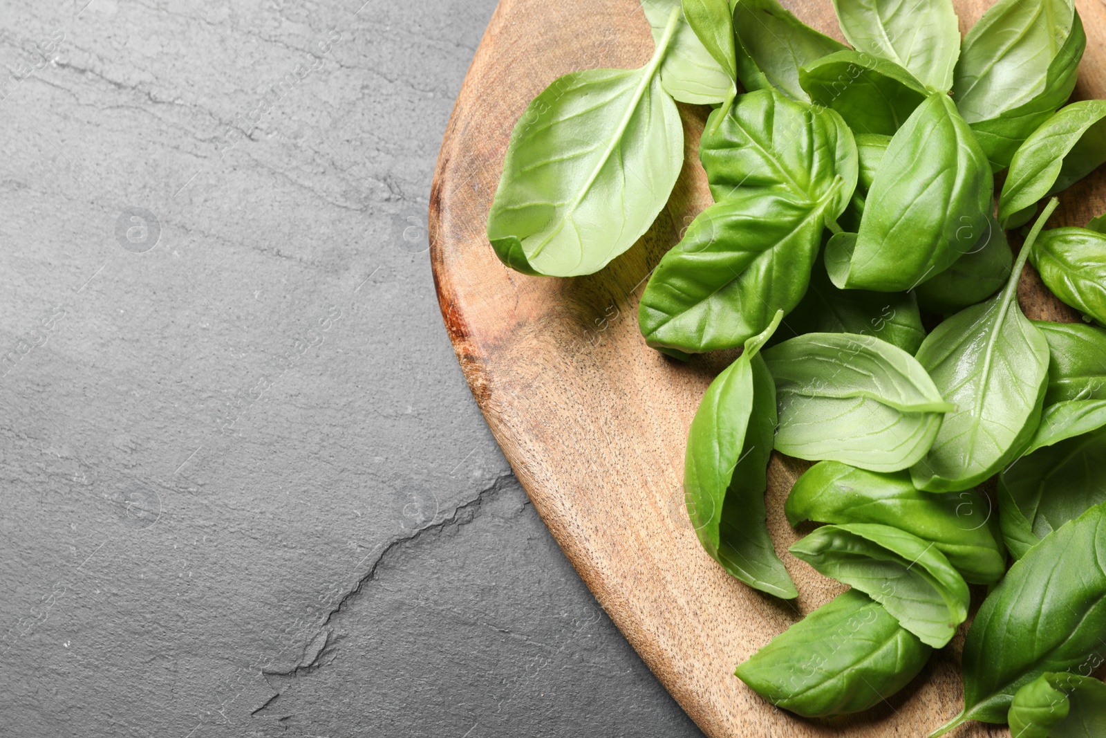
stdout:
[[729,115],[711,113],[699,158],[716,201],[739,189],[781,190],[811,205],[833,196],[826,217],[836,218],[856,186],[856,143],[841,116],[771,90],[742,95]]

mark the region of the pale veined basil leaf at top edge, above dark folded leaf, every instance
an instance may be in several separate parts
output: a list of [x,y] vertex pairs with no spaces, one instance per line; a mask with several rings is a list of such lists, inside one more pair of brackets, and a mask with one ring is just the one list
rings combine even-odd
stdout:
[[834,0],[833,7],[857,51],[895,62],[932,90],[952,89],[960,25],[951,0]]

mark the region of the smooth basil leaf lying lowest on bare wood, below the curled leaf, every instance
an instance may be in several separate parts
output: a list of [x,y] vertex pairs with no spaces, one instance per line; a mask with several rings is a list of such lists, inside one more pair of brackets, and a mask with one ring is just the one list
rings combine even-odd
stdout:
[[738,666],[768,701],[806,717],[858,713],[917,676],[931,648],[883,605],[849,590]]

